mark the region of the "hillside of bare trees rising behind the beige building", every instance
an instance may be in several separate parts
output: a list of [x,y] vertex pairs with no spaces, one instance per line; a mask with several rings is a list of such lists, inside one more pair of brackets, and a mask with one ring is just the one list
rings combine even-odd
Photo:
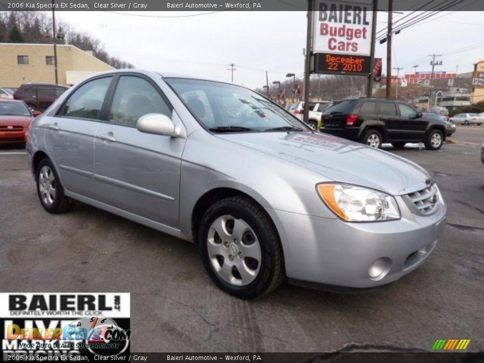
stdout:
[[[66,38],[57,40],[57,44],[72,44],[82,50],[91,50],[96,58],[116,69],[134,68],[131,63],[110,56],[101,41],[89,33],[79,32],[66,22],[60,22],[58,26],[62,27]],[[0,11],[0,42],[49,44],[51,31],[52,19],[46,13]]]

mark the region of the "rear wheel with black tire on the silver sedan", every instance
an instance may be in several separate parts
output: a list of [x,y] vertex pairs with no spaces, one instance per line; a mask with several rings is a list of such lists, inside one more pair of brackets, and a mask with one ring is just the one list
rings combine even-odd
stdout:
[[[48,179],[46,179],[44,175],[41,175],[41,172],[43,173],[43,171],[46,171],[49,176],[51,175],[52,181],[46,181]],[[64,188],[61,184],[61,180],[59,179],[59,176],[57,175],[57,172],[55,171],[55,168],[49,159],[45,158],[40,161],[35,176],[37,184],[37,195],[39,197],[40,204],[42,204],[42,207],[44,207],[47,212],[52,214],[59,214],[65,213],[72,208],[74,202],[71,198],[64,195]],[[41,190],[41,187],[42,189],[46,188],[46,185],[49,185],[50,188],[53,187],[54,189],[53,193],[48,193],[49,197],[47,197],[46,193]],[[52,192],[51,189],[50,192]],[[51,196],[53,196],[53,198],[51,198]],[[50,200],[52,200],[52,202],[49,204]]]

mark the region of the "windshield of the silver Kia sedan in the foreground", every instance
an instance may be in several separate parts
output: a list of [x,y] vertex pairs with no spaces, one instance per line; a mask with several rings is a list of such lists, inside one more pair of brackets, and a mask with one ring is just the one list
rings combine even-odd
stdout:
[[211,131],[308,130],[287,111],[247,88],[185,78],[164,80]]

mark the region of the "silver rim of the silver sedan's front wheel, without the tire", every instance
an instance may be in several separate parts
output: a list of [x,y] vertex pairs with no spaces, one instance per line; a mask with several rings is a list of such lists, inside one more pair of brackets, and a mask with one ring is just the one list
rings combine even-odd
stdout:
[[223,215],[215,219],[207,236],[212,268],[224,281],[245,286],[254,281],[262,252],[254,230],[243,219]]

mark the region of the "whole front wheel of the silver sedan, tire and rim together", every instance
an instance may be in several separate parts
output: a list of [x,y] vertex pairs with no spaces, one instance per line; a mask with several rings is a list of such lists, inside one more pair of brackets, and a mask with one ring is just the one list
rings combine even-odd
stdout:
[[277,231],[249,198],[232,197],[212,205],[202,218],[198,239],[210,277],[234,296],[256,298],[285,279]]

